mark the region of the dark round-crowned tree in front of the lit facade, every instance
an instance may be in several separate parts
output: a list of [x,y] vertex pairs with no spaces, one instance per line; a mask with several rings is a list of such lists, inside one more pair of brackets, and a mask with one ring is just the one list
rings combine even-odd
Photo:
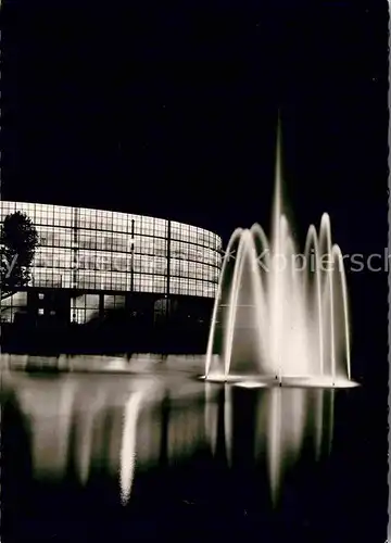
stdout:
[[30,280],[30,266],[39,244],[31,219],[20,211],[7,215],[1,225],[0,244],[0,290],[3,300]]

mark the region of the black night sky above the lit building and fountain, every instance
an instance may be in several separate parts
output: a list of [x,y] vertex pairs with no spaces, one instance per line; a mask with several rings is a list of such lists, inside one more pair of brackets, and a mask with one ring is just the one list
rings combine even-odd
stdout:
[[387,1],[18,0],[3,15],[3,199],[225,240],[268,230],[280,111],[299,239],[327,211],[344,252],[387,247]]

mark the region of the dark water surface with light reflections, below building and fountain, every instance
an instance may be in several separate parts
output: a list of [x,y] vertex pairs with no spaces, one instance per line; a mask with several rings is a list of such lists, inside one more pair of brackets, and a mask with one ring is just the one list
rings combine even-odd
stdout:
[[383,395],[195,372],[3,370],[3,541],[387,540]]

